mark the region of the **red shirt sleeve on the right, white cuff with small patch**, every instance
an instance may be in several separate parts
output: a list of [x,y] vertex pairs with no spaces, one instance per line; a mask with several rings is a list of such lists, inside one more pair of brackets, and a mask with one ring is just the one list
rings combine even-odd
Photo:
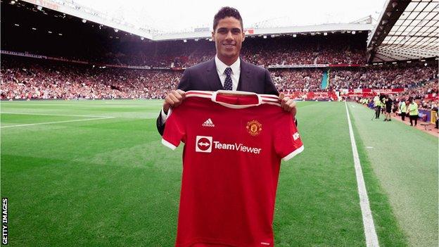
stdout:
[[274,132],[274,149],[282,160],[289,160],[303,151],[300,134],[289,114],[279,119]]

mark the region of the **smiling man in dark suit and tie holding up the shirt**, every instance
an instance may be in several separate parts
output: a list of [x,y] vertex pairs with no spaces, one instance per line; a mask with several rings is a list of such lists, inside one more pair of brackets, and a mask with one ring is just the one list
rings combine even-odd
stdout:
[[[157,118],[158,132],[163,135],[170,108],[184,101],[185,91],[237,90],[257,94],[279,95],[269,71],[239,58],[245,39],[243,21],[238,10],[223,7],[213,19],[212,39],[217,54],[210,61],[199,63],[184,70],[178,89],[167,94]],[[295,117],[295,102],[284,94],[279,95],[281,106]],[[297,122],[296,122],[297,125]]]

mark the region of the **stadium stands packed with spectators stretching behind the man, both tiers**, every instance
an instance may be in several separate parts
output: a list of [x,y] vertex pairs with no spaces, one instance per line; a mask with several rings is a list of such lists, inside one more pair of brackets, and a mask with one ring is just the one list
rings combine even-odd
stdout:
[[[163,99],[184,68],[215,56],[208,38],[158,42],[24,1],[1,6],[8,20],[1,23],[1,99]],[[367,64],[369,32],[249,35],[241,57],[268,68],[279,91],[295,99],[395,89],[437,100],[438,58]]]

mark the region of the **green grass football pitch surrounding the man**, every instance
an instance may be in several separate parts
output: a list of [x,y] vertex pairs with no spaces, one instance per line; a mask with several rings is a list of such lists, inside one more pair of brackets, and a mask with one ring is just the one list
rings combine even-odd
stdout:
[[[1,102],[10,246],[173,246],[182,145],[161,101]],[[437,246],[438,139],[348,103],[381,246]],[[18,114],[20,113],[20,114]],[[366,246],[345,103],[298,103],[305,151],[281,165],[276,246]]]

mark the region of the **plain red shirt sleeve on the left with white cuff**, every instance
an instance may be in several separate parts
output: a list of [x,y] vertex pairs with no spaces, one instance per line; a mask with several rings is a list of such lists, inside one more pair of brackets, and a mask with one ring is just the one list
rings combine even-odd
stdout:
[[162,144],[174,150],[179,146],[180,141],[186,137],[184,118],[182,118],[182,109],[176,108],[167,116],[165,132],[162,137]]

